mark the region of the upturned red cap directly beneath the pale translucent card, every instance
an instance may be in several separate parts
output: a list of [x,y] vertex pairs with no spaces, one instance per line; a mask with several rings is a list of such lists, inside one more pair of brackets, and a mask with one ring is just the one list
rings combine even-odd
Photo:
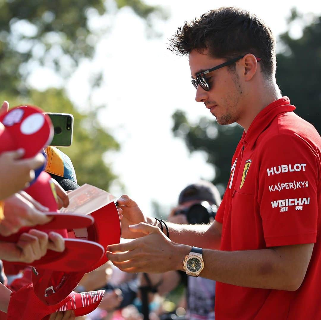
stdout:
[[[68,232],[69,238],[90,240],[100,243],[104,248],[109,244],[119,243],[121,236],[120,219],[115,202],[110,202],[106,206],[92,212],[91,217],[95,219],[92,226],[82,229],[74,229]],[[102,258],[89,269],[87,272],[95,270],[102,266],[108,258],[104,254]]]

